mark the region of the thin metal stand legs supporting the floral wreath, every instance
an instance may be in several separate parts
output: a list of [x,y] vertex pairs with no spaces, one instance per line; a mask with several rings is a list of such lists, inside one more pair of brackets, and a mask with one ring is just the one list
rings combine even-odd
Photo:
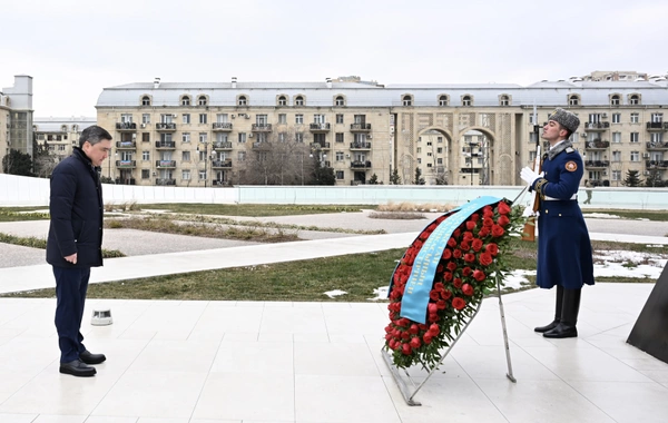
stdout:
[[[505,346],[505,362],[508,363],[508,373],[505,373],[505,377],[508,377],[512,383],[517,383],[518,381],[514,378],[514,376],[512,374],[512,364],[510,362],[510,345],[508,343],[508,331],[505,328],[505,314],[503,312],[503,302],[501,301],[501,284],[499,283],[499,279],[497,279],[497,294],[499,296],[499,313],[501,314],[501,328],[503,329],[503,343],[504,343],[504,346]],[[480,302],[478,304],[478,308],[475,308],[475,313],[473,313],[473,316],[471,316],[471,318],[469,319],[469,322],[462,328],[462,332],[460,332],[459,335],[456,335],[456,338],[445,350],[445,353],[443,354],[443,356],[439,361],[439,364],[436,364],[429,372],[429,374],[426,375],[426,377],[424,378],[424,381],[422,381],[422,383],[420,383],[419,385],[416,385],[415,382],[413,382],[413,378],[411,377],[411,375],[409,374],[409,372],[405,368],[403,370],[403,372],[405,373],[407,380],[411,382],[412,387],[414,388],[413,392],[410,391],[410,387],[406,385],[406,383],[402,378],[402,376],[400,374],[400,368],[396,367],[394,365],[394,363],[392,362],[392,356],[384,348],[381,350],[381,353],[383,354],[383,358],[385,360],[385,364],[390,368],[390,372],[392,372],[392,377],[394,378],[394,382],[396,383],[396,386],[401,391],[401,394],[403,395],[404,401],[406,402],[407,405],[412,405],[412,406],[413,405],[422,405],[422,403],[413,400],[413,397],[415,396],[415,394],[418,394],[418,391],[420,391],[422,388],[422,386],[424,386],[424,384],[426,383],[426,381],[429,381],[429,378],[434,374],[434,372],[443,363],[443,361],[445,360],[445,357],[448,356],[448,354],[450,354],[450,351],[452,351],[452,348],[454,347],[454,345],[456,344],[456,342],[460,340],[460,337],[462,337],[463,333],[466,331],[466,327],[469,327],[469,325],[471,324],[471,322],[473,322],[473,318],[475,318],[475,316],[478,315],[478,312],[480,312],[480,307],[481,306],[482,306],[482,302]]]

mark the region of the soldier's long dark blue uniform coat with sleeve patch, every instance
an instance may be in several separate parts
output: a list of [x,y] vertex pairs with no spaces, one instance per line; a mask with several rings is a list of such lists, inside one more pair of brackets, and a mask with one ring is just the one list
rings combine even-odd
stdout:
[[[546,155],[542,170],[544,177],[532,185],[541,198],[536,284],[541,288],[561,285],[568,289],[593,285],[589,233],[578,201],[570,199],[582,179],[582,158],[568,142],[552,158]],[[546,196],[557,200],[546,200]]]

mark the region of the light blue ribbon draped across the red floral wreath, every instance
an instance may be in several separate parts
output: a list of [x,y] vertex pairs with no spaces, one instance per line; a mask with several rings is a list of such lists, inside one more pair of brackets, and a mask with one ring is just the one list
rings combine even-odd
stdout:
[[[501,201],[501,199],[502,198],[491,196],[479,197],[455,209],[456,212],[454,214],[450,215],[433,233],[431,233],[413,262],[413,269],[406,282],[406,287],[401,302],[400,316],[418,323],[426,322],[429,293],[432,289],[434,277],[436,275],[436,267],[443,255],[443,249],[445,249],[445,245],[452,236],[452,233],[473,213],[490,204],[497,204]],[[392,287],[390,289],[392,289]]]

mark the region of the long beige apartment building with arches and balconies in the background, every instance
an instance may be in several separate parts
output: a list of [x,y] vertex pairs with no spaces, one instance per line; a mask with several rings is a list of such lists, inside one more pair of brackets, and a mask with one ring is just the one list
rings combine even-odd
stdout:
[[[628,170],[666,180],[665,78],[518,85],[323,82],[129,83],[105,88],[97,122],[114,135],[102,175],[119,184],[226,186],[245,163],[294,141],[337,185],[520,185],[536,155],[534,122],[554,108],[580,117],[572,141],[584,180],[621,186]],[[591,79],[591,78],[590,78]],[[302,160],[304,156],[302,153]]]

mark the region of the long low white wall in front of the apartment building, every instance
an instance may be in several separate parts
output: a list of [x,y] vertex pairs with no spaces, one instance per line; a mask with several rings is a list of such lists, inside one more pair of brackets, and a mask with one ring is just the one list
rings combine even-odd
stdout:
[[[0,174],[0,206],[47,206],[49,179]],[[181,188],[166,186],[105,185],[106,204],[208,203],[208,204],[341,204],[436,203],[461,205],[489,195],[514,199],[518,186],[236,186]],[[578,193],[582,208],[668,209],[668,188],[592,188]],[[529,200],[529,195],[522,203]]]

